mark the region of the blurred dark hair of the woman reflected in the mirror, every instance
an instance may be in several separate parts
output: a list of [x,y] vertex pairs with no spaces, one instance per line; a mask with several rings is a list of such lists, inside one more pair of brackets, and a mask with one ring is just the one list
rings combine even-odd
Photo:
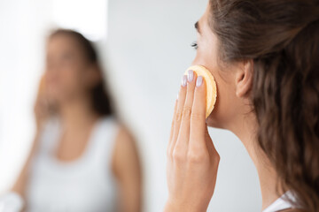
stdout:
[[[57,29],[53,31],[50,38],[58,34],[66,34],[73,37],[82,47],[83,53],[91,64],[97,65],[97,72],[103,76],[101,66],[98,62],[97,51],[93,44],[89,42],[82,34],[70,29]],[[93,110],[99,116],[114,115],[110,95],[106,92],[105,81],[101,79],[90,91],[91,104]]]

